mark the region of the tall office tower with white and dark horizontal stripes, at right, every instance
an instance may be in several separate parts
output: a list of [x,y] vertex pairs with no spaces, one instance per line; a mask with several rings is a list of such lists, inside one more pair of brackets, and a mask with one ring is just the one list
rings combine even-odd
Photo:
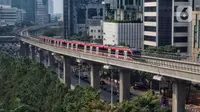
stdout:
[[191,22],[182,20],[181,15],[176,14],[180,11],[178,9],[191,6],[192,0],[145,0],[145,47],[172,45],[180,52],[190,52]]

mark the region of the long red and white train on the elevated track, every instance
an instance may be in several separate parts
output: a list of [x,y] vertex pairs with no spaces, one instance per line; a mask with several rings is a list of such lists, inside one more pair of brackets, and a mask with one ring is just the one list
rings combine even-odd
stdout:
[[134,58],[139,58],[141,56],[141,52],[139,50],[133,50],[125,47],[113,47],[94,43],[68,41],[44,36],[41,36],[39,40],[41,43],[49,44],[56,47],[92,53],[96,55],[109,56],[118,59],[133,60]]

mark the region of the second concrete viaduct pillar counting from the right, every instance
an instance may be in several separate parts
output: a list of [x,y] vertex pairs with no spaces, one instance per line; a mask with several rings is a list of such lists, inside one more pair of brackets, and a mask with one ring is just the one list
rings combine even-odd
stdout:
[[128,100],[130,98],[130,70],[120,70],[120,86],[119,101]]

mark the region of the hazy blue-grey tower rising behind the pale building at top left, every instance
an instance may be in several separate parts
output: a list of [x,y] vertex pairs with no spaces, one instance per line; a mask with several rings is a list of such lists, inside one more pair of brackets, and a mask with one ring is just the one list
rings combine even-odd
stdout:
[[26,11],[26,22],[36,21],[36,0],[12,0],[12,7]]

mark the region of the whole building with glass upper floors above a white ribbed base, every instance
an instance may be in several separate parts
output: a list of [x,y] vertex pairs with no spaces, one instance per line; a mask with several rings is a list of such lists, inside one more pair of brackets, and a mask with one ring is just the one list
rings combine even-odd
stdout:
[[143,48],[141,0],[104,2],[103,44]]

